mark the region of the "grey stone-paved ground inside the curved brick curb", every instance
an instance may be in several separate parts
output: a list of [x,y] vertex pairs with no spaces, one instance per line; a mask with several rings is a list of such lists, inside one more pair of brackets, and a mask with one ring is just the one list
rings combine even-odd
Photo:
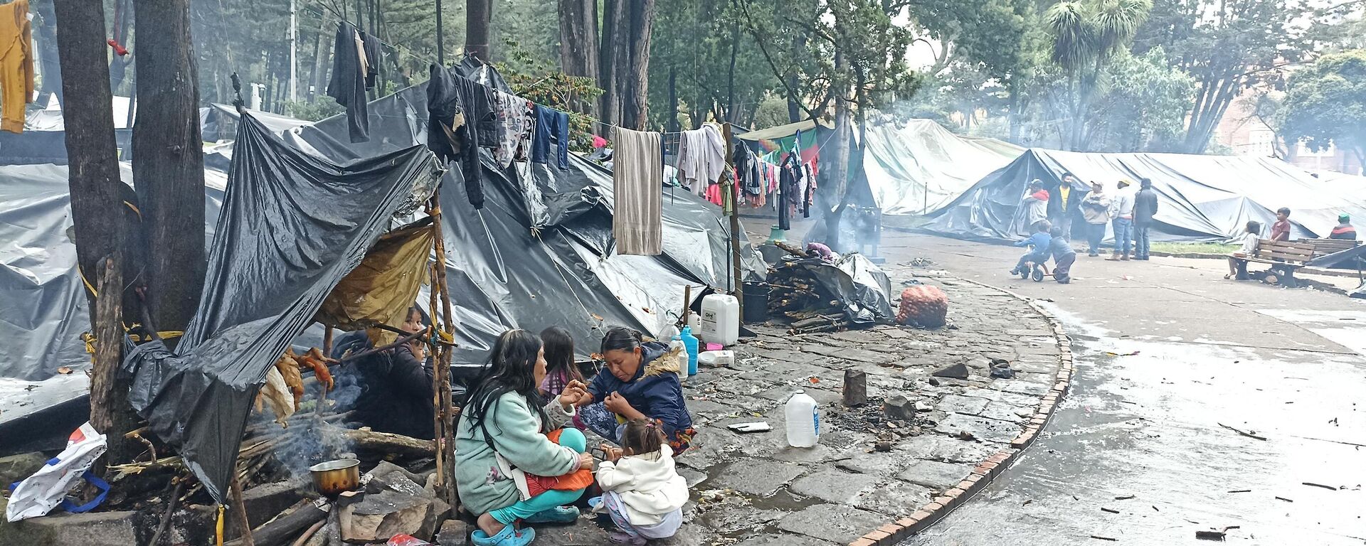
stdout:
[[[658,543],[850,543],[910,516],[959,486],[979,463],[1011,450],[1060,366],[1048,318],[1009,293],[943,272],[891,263],[887,272],[897,293],[912,276],[941,287],[951,325],[803,336],[751,328],[755,337],[736,347],[732,367],[702,370],[684,385],[699,434],[678,463],[693,502],[684,527]],[[992,378],[992,359],[1008,360],[1016,377]],[[956,363],[967,366],[967,379],[932,377]],[[867,405],[840,404],[844,370],[866,373]],[[796,390],[821,404],[814,448],[785,442],[783,403]],[[889,425],[881,401],[897,394],[921,411]],[[727,429],[755,420],[768,422],[772,431]],[[891,450],[874,449],[880,435],[893,441]],[[607,542],[589,519],[538,530],[538,536],[544,545]]]

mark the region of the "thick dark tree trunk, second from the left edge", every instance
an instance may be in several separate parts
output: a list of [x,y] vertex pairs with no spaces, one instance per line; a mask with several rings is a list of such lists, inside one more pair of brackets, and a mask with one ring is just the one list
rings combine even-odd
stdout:
[[[204,288],[204,154],[199,86],[189,0],[135,0],[138,101],[133,130],[133,179],[148,253],[139,278],[148,288],[153,325],[184,330]],[[175,340],[168,340],[173,347]]]

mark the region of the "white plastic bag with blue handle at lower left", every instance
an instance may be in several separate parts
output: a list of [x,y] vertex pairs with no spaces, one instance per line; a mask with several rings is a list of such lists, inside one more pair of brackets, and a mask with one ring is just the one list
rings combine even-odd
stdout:
[[[19,486],[10,495],[10,505],[5,506],[5,519],[19,521],[29,517],[46,516],[52,508],[66,500],[71,483],[90,470],[94,460],[104,455],[105,448],[104,434],[96,431],[89,422],[82,425],[76,431],[71,433],[71,437],[67,440],[67,449],[63,449],[56,457],[48,460],[48,464],[38,468],[31,476],[19,482]],[[100,482],[102,483],[102,480]],[[108,493],[108,485],[104,489]],[[96,498],[86,506],[78,508],[90,509],[102,500],[104,494],[101,493],[100,498]],[[83,509],[72,509],[71,512],[83,512]]]

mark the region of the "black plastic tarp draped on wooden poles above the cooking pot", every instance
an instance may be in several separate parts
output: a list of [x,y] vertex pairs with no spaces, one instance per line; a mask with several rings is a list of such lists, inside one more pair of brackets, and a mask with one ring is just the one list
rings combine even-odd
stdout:
[[153,341],[124,359],[128,401],[214,500],[266,371],[436,172],[421,146],[335,165],[240,120],[199,307],[173,354]]

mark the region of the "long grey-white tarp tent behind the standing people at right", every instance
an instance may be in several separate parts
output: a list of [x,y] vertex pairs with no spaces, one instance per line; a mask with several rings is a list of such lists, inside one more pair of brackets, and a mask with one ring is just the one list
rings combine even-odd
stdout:
[[[1041,179],[1056,187],[1068,171],[1079,184],[1101,182],[1112,194],[1119,180],[1137,186],[1142,177],[1152,179],[1158,195],[1158,239],[1232,239],[1249,220],[1269,227],[1283,206],[1292,210],[1291,238],[1315,238],[1337,224],[1339,213],[1366,213],[1366,202],[1277,160],[1030,149],[932,213],[925,229],[967,239],[1015,239],[1024,231],[1019,209],[1029,182]],[[1050,217],[1057,214],[1050,203]]]

